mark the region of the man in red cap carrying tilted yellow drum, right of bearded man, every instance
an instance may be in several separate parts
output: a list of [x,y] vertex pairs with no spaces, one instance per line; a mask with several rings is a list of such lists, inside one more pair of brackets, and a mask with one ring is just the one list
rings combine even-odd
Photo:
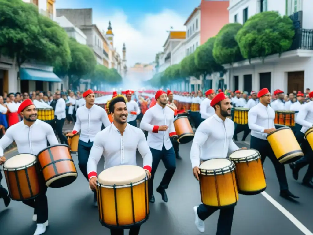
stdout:
[[276,175],[280,185],[280,196],[284,198],[299,198],[288,190],[285,166],[280,164],[278,159],[266,139],[269,133],[274,132],[275,111],[269,106],[271,94],[267,88],[263,88],[258,93],[259,103],[248,112],[248,125],[251,130],[250,148],[256,149],[261,155],[262,164],[267,157],[275,167]]

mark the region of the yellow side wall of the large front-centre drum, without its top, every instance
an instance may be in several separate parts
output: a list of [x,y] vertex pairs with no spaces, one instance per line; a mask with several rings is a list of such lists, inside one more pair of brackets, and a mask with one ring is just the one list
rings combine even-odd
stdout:
[[101,187],[98,183],[97,198],[100,222],[105,227],[127,229],[144,223],[149,217],[147,180],[116,189]]

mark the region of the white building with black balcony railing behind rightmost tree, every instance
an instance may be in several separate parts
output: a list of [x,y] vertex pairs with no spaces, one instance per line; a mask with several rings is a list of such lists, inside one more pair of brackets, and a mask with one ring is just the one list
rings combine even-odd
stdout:
[[[287,4],[286,4],[287,3]],[[243,24],[252,15],[263,11],[278,11],[292,15],[295,40],[291,48],[280,57],[267,56],[224,65],[228,70],[228,89],[259,91],[267,87],[271,92],[281,89],[286,93],[313,88],[313,25],[311,0],[230,0],[229,22]],[[274,79],[275,78],[275,79]]]

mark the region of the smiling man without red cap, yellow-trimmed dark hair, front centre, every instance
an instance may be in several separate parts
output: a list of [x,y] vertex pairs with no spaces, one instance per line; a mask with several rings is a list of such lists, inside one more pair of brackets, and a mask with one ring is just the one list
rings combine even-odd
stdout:
[[[97,187],[97,165],[101,156],[104,156],[105,169],[118,165],[137,165],[136,150],[143,158],[143,169],[148,178],[151,177],[152,155],[146,137],[141,129],[127,123],[127,100],[122,95],[113,97],[108,102],[108,111],[113,116],[113,123],[98,132],[91,148],[87,172],[89,186],[95,190]],[[134,225],[129,234],[138,235],[140,225]],[[123,229],[111,229],[111,235],[124,234]]]

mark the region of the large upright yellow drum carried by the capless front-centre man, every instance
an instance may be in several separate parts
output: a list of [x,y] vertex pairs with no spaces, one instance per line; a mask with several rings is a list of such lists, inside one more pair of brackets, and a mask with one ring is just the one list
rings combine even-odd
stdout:
[[100,222],[108,228],[127,229],[149,217],[146,171],[133,165],[105,169],[97,179]]

